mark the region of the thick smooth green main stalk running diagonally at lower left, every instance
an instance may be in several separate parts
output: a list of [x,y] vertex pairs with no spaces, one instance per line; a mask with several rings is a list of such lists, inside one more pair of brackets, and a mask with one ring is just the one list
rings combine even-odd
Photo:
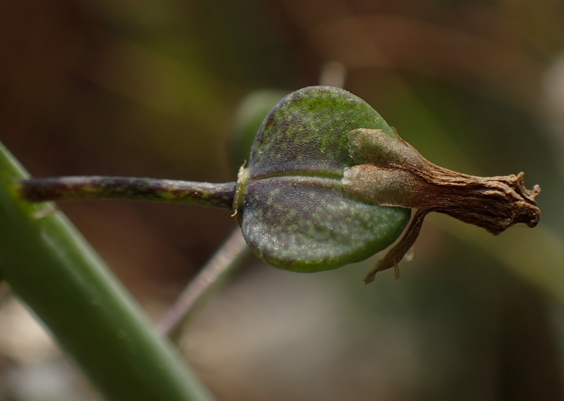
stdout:
[[108,400],[213,399],[65,215],[20,199],[27,177],[0,144],[0,276]]

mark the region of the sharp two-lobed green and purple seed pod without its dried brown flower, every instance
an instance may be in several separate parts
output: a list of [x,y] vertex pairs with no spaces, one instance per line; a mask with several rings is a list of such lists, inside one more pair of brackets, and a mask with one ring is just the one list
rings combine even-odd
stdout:
[[346,195],[354,165],[350,131],[394,132],[364,100],[342,89],[307,87],[280,100],[241,168],[233,210],[253,252],[298,272],[330,270],[387,248],[411,210]]

